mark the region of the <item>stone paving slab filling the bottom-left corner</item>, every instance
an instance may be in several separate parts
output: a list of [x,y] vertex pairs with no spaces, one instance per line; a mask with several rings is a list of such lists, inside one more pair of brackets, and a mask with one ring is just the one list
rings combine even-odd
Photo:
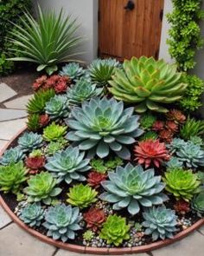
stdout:
[[1,256],[52,256],[54,252],[54,246],[35,239],[14,223],[0,231]]

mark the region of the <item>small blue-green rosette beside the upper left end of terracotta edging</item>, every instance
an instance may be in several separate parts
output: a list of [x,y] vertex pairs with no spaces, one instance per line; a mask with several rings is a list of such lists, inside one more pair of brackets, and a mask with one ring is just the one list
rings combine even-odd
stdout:
[[25,133],[18,139],[18,145],[22,151],[31,152],[33,149],[40,148],[42,146],[42,136],[33,132]]

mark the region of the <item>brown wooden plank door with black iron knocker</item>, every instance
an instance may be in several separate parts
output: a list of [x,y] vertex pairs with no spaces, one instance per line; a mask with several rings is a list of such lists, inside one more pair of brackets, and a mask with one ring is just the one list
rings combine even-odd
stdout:
[[[128,2],[133,10],[124,9]],[[157,58],[163,4],[164,0],[99,0],[99,56],[121,61],[131,56]]]

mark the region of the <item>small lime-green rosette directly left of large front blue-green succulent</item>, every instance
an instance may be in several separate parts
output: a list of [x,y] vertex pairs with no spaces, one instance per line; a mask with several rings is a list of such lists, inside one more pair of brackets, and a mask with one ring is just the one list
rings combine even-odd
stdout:
[[85,208],[97,201],[98,192],[88,185],[78,184],[69,189],[67,203],[70,205]]

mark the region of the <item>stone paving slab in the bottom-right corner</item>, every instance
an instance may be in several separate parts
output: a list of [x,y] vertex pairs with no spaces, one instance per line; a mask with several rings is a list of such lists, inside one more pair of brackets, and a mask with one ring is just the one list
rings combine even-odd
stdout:
[[171,246],[166,246],[160,250],[153,251],[154,256],[203,256],[204,255],[204,236],[194,232],[181,241]]

